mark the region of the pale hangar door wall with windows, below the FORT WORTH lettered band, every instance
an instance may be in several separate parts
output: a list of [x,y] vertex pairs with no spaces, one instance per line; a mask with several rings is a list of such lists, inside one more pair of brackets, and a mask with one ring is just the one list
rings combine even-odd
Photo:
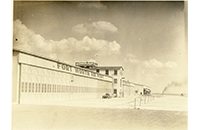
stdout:
[[[36,92],[36,86],[39,85],[40,90]],[[21,103],[29,103],[100,98],[106,92],[111,93],[112,82],[22,64],[22,86]],[[51,91],[47,92],[47,86]]]

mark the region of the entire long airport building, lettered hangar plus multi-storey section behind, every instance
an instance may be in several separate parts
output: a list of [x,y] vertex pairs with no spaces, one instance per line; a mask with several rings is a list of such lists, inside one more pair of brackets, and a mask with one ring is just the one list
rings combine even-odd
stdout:
[[[135,94],[122,66],[80,66],[13,49],[12,103],[43,103]],[[143,86],[140,87],[143,94]]]

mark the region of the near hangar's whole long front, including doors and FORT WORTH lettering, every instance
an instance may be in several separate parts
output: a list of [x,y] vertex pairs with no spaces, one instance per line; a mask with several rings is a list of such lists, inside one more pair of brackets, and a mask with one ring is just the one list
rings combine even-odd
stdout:
[[13,102],[20,103],[100,98],[113,89],[110,76],[21,52],[13,55],[12,82]]

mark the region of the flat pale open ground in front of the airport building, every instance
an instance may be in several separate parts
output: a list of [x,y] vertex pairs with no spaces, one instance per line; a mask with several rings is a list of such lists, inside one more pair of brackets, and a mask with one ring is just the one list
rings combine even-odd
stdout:
[[[185,97],[157,97],[134,109],[130,100],[96,99],[64,105],[12,105],[13,130],[187,130],[187,111],[161,110],[168,101]],[[170,99],[170,100],[168,100]],[[177,99],[177,100],[175,100]],[[162,101],[165,104],[162,104]],[[110,102],[110,103],[109,103]],[[111,103],[112,102],[112,103]],[[123,103],[124,102],[124,103]],[[99,105],[97,105],[97,103]],[[160,104],[159,104],[160,103]],[[187,103],[187,102],[186,102]],[[104,105],[103,105],[104,104]],[[111,104],[111,105],[108,105]],[[118,104],[118,105],[117,105]],[[148,106],[149,104],[149,106]],[[152,107],[152,105],[157,107]],[[172,103],[172,107],[174,106]],[[88,105],[88,107],[87,107]],[[117,107],[116,107],[117,105]],[[146,109],[145,109],[146,105]],[[183,105],[183,101],[180,102]],[[185,104],[187,105],[187,104]],[[100,107],[102,106],[102,107]],[[119,107],[121,106],[121,107]],[[126,107],[127,106],[127,107]],[[160,107],[159,107],[160,106]],[[174,107],[176,107],[174,106]],[[179,108],[181,108],[179,106]],[[153,108],[153,109],[152,109]],[[159,109],[156,109],[159,108]]]

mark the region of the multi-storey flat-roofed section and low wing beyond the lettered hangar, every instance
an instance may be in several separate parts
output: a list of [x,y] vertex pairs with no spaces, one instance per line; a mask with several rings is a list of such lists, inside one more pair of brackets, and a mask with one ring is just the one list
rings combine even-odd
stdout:
[[76,62],[75,65],[111,76],[113,78],[112,95],[116,95],[117,97],[147,95],[151,92],[148,87],[142,84],[136,84],[126,80],[123,76],[124,69],[122,66],[98,66],[95,62]]

